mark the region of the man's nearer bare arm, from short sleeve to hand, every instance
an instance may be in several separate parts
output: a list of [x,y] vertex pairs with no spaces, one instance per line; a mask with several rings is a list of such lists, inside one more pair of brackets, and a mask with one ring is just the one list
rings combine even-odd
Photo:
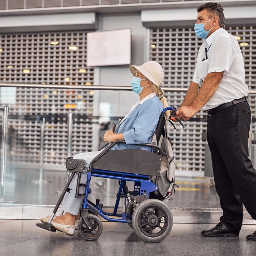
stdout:
[[179,118],[183,118],[184,121],[188,121],[194,114],[200,111],[203,106],[209,101],[209,99],[214,95],[217,90],[224,71],[222,72],[212,72],[207,74],[202,87],[197,94],[196,98],[193,100],[190,106],[182,106],[176,111],[176,115]]

